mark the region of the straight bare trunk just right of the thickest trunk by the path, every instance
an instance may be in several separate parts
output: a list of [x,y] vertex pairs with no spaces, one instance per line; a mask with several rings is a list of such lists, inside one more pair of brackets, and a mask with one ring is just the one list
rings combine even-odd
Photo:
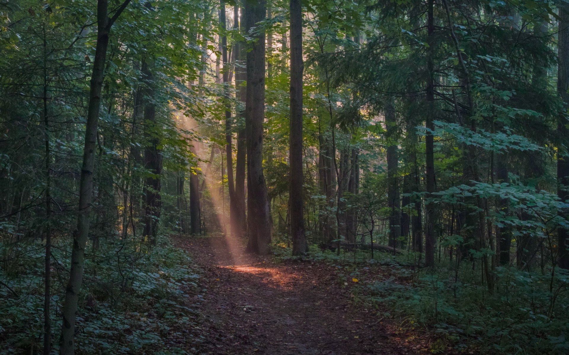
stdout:
[[308,248],[304,235],[302,165],[302,5],[290,0],[290,220],[292,255]]

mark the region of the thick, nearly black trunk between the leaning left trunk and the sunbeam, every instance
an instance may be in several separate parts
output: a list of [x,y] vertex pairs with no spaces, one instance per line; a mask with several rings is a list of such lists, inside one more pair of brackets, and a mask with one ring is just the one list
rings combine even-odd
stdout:
[[154,75],[149,68],[149,63],[145,60],[142,63],[143,80],[146,81],[147,93],[146,97],[149,102],[144,106],[144,120],[145,120],[145,136],[147,144],[144,152],[145,170],[150,172],[150,176],[146,177],[144,186],[145,195],[145,218],[144,229],[142,237],[150,241],[151,245],[156,244],[156,237],[158,235],[158,222],[160,220],[160,211],[162,210],[162,197],[160,197],[161,181],[160,174],[162,174],[162,152],[158,149],[160,145],[158,126],[156,125],[156,105],[154,104]]

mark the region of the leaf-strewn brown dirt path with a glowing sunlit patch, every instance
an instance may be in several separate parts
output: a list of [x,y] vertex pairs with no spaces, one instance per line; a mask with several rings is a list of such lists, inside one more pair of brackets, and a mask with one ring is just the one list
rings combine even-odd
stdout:
[[[411,354],[418,346],[390,332],[376,311],[323,263],[244,254],[224,237],[179,238],[204,269],[200,287],[206,341],[200,353],[266,355]],[[414,348],[414,349],[413,349]]]

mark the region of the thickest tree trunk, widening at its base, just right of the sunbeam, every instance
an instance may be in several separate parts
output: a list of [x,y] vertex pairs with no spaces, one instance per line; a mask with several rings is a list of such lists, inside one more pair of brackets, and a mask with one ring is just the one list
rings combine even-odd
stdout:
[[[265,0],[245,2],[247,28],[265,19]],[[245,130],[247,139],[248,203],[250,203],[248,252],[269,253],[271,227],[269,197],[263,176],[263,122],[265,120],[265,33],[254,34],[257,39],[247,53],[247,93],[245,101]]]

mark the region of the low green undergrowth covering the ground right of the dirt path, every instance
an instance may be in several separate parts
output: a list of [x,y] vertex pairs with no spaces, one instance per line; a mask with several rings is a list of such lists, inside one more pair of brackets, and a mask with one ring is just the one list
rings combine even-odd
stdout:
[[[277,247],[278,258],[293,258]],[[341,269],[340,283],[357,280],[357,299],[382,304],[382,316],[411,329],[423,329],[439,340],[431,353],[567,354],[569,353],[569,274],[566,270],[510,266],[493,270],[493,287],[483,278],[480,260],[439,262],[435,270],[417,267],[415,253],[393,256],[357,250],[310,248],[312,260]],[[306,257],[305,257],[306,258]],[[363,268],[377,266],[380,277],[366,280]],[[554,272],[553,272],[554,271]]]

